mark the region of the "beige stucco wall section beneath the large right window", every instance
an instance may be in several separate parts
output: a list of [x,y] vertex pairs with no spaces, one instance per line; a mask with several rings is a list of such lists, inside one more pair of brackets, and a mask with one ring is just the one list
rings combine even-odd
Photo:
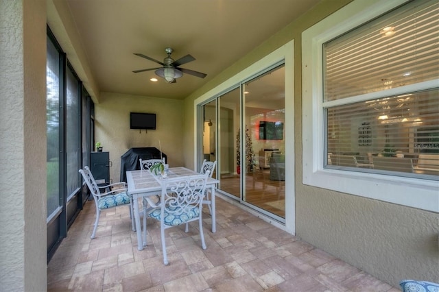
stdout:
[[302,184],[296,206],[305,241],[394,286],[439,282],[437,213]]

